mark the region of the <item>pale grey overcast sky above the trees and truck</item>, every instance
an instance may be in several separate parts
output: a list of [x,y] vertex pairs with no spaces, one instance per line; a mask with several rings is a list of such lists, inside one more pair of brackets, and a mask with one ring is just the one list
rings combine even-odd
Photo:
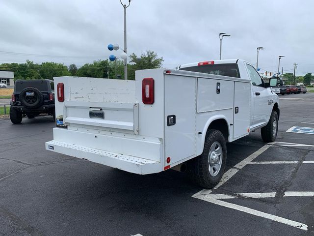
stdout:
[[[226,32],[231,36],[222,41],[222,59],[256,64],[257,47],[264,47],[262,72],[277,71],[278,56],[286,56],[280,60],[284,73],[293,73],[294,62],[297,75],[314,73],[313,9],[312,0],[131,0],[128,54],[154,51],[167,68],[219,59],[218,35]],[[109,43],[124,47],[120,0],[0,0],[0,11],[0,63],[30,59],[80,67],[108,59]]]

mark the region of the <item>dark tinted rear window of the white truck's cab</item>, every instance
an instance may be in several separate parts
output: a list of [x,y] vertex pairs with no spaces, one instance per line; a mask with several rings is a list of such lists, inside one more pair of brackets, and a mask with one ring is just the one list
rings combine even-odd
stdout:
[[180,70],[195,71],[212,75],[224,75],[240,78],[239,68],[236,63],[207,64],[200,66],[183,67]]

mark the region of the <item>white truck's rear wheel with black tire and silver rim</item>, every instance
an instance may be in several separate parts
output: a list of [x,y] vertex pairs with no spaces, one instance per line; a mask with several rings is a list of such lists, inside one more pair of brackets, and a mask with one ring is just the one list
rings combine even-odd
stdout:
[[226,167],[226,159],[227,147],[223,134],[219,130],[209,129],[203,153],[190,162],[190,173],[194,181],[204,188],[214,187],[221,180]]

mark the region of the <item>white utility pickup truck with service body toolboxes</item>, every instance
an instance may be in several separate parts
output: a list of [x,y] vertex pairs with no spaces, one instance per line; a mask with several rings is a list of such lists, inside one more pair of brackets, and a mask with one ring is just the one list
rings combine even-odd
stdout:
[[[241,59],[203,61],[179,70],[148,69],[135,81],[54,78],[56,127],[46,149],[140,175],[187,170],[216,185],[226,142],[260,129],[277,136],[278,96]],[[187,164],[186,164],[187,163]]]

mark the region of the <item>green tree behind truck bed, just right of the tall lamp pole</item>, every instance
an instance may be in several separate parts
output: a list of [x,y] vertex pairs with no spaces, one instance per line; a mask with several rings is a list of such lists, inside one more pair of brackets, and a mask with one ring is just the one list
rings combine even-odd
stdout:
[[154,51],[146,51],[146,54],[142,53],[140,58],[132,53],[130,59],[133,64],[128,66],[128,80],[135,80],[136,70],[160,68],[163,62],[163,58],[158,58]]

